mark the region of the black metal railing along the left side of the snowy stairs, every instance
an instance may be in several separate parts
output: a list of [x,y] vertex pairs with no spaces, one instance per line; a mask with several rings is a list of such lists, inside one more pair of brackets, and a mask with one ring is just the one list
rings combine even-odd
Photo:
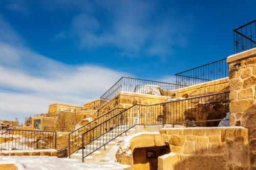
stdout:
[[87,132],[88,130],[94,128],[97,125],[102,124],[112,116],[120,113],[125,109],[123,108],[116,108],[114,110],[111,110],[108,113],[105,113],[101,116],[99,116],[97,119],[93,120],[92,122],[83,125],[82,127],[76,129],[75,131],[71,132],[69,134],[69,156],[73,154],[74,152],[78,151],[82,147],[82,134],[84,132]]

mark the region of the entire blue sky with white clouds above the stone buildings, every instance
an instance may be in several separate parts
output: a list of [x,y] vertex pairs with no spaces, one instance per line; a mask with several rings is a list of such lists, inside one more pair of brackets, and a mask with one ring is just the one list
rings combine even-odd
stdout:
[[0,0],[0,119],[82,105],[121,76],[172,82],[233,54],[255,1]]

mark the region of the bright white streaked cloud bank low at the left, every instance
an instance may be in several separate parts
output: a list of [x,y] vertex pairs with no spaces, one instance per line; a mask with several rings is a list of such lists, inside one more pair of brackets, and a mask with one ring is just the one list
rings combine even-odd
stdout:
[[[95,65],[67,65],[22,45],[15,31],[0,20],[0,119],[48,111],[53,102],[82,105],[99,96],[125,72]],[[2,34],[5,33],[5,34]],[[9,38],[16,37],[16,43]]]

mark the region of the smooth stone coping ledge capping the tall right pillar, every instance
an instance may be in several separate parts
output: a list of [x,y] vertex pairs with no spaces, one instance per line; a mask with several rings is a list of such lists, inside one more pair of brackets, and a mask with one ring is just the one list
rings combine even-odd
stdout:
[[250,50],[247,50],[247,51],[229,56],[227,58],[227,63],[229,64],[229,63],[232,63],[232,62],[244,60],[248,57],[253,57],[253,56],[256,56],[256,47],[254,47]]

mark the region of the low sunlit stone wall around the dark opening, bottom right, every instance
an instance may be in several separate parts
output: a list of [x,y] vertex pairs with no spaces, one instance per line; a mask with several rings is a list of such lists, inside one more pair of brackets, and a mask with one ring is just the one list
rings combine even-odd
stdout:
[[132,138],[131,151],[125,151],[131,155],[118,160],[133,166],[136,148],[163,145],[169,145],[171,153],[158,157],[158,170],[248,169],[250,164],[248,130],[243,127],[163,128],[160,134]]

